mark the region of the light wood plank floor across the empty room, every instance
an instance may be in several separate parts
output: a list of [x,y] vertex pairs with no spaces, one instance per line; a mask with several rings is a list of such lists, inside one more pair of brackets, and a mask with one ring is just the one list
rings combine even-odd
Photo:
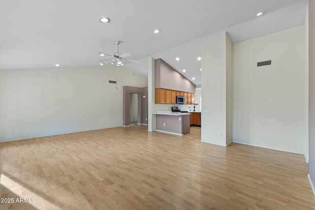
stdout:
[[0,143],[0,210],[311,210],[302,155],[132,127]]

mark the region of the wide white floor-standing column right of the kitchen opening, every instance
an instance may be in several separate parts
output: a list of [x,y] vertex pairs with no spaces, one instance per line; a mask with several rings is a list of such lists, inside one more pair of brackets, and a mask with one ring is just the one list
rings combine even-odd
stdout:
[[226,32],[201,43],[201,141],[221,146],[232,142],[232,42]]

